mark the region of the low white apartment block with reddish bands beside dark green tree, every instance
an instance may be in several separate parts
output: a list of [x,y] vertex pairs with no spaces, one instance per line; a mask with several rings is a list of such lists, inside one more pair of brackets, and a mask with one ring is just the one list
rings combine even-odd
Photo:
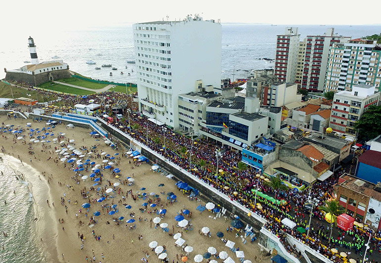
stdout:
[[371,105],[378,105],[380,92],[375,86],[360,84],[352,91],[339,91],[334,94],[330,127],[335,132],[355,135],[354,124]]

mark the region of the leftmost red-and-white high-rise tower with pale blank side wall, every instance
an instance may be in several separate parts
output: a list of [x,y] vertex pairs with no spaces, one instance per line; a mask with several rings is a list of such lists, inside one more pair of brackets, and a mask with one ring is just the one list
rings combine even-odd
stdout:
[[297,27],[286,27],[285,34],[277,36],[274,75],[281,82],[295,82],[299,39]]

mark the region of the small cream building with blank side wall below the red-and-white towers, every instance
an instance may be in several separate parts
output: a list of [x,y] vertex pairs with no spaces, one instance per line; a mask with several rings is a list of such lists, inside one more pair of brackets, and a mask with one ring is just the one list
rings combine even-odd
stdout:
[[302,95],[297,94],[297,84],[277,82],[262,88],[261,105],[282,107],[301,99]]

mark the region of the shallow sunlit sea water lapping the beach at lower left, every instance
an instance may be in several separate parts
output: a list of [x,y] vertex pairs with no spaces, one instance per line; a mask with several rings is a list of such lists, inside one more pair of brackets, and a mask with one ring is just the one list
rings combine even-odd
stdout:
[[[30,191],[31,185],[27,181],[16,179],[15,175],[21,175],[21,172],[11,163],[9,156],[1,157],[0,262],[45,263],[43,248],[37,241],[40,238],[36,236],[34,219],[39,215]],[[2,232],[8,236],[4,237]]]

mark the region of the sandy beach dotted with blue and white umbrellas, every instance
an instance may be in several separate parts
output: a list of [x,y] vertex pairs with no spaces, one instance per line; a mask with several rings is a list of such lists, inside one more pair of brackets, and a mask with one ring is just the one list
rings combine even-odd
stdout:
[[[14,125],[13,128],[17,129],[39,128],[41,130],[46,127],[45,122],[32,122],[31,127],[28,128],[26,127],[26,123],[31,122],[31,120],[9,120],[6,116],[0,116],[0,122],[3,122],[4,125]],[[28,132],[29,130],[26,130],[21,134],[25,137],[25,143],[22,143],[24,141],[23,139],[14,139],[14,135],[12,134],[3,133],[0,135],[0,146],[4,148],[4,154],[17,159],[14,160],[14,163],[18,163],[20,169],[28,169],[27,166],[30,165],[40,173],[38,178],[27,179],[32,182],[33,187],[36,187],[34,199],[40,217],[36,222],[36,231],[39,235],[39,239],[42,238],[43,240],[40,241],[40,244],[44,246],[47,251],[48,262],[81,263],[87,262],[86,257],[88,257],[88,262],[91,262],[93,257],[95,257],[95,261],[93,262],[96,263],[139,263],[142,262],[143,258],[147,259],[150,263],[159,263],[161,260],[158,259],[156,254],[151,251],[151,248],[148,246],[151,241],[157,241],[158,246],[166,247],[169,262],[181,262],[180,255],[186,254],[186,252],[184,252],[181,247],[175,247],[175,239],[171,236],[179,231],[182,233],[182,238],[186,241],[183,246],[188,244],[188,246],[192,246],[194,249],[189,255],[188,262],[194,262],[194,256],[197,254],[203,255],[211,246],[216,248],[217,254],[221,251],[226,251],[235,262],[239,262],[236,254],[225,246],[221,238],[216,236],[218,231],[224,233],[224,238],[236,242],[235,247],[239,247],[239,250],[244,252],[244,258],[246,260],[255,262],[255,257],[257,257],[257,262],[260,262],[262,253],[259,252],[259,247],[256,242],[251,243],[250,238],[247,237],[246,244],[243,244],[241,238],[236,237],[237,231],[227,232],[227,227],[230,226],[231,222],[230,218],[225,219],[221,217],[213,219],[215,214],[207,210],[200,213],[196,208],[200,204],[205,205],[205,202],[201,200],[189,200],[187,195],[184,195],[176,187],[176,180],[168,179],[160,173],[153,173],[149,164],[144,163],[139,167],[134,166],[133,159],[123,157],[125,149],[111,149],[102,139],[96,140],[91,137],[89,135],[89,132],[91,132],[89,129],[77,127],[74,129],[66,129],[66,126],[58,125],[53,131],[55,135],[48,138],[51,142],[45,142],[44,148],[41,142],[28,145],[30,138],[32,138],[28,136]],[[100,171],[103,175],[102,182],[98,181],[99,185],[94,186],[94,190],[90,189],[95,183],[90,177],[86,180],[81,179],[82,175],[90,175],[92,173],[91,169],[94,166],[89,165],[88,172],[79,172],[81,176],[78,175],[77,178],[74,178],[76,173],[73,172],[73,167],[77,166],[76,162],[61,162],[60,159],[62,156],[55,152],[54,147],[58,149],[63,148],[58,143],[54,144],[52,141],[53,138],[57,137],[59,132],[66,133],[62,140],[77,149],[84,147],[90,151],[91,147],[96,146],[94,150],[95,154],[79,158],[83,159],[83,162],[89,158],[91,162],[94,161],[96,164],[103,166],[105,164],[102,162],[104,159],[114,156],[115,159],[112,161],[117,164],[112,166],[113,168],[119,168],[121,170],[121,176],[115,178],[115,175],[111,175],[110,173],[112,170],[109,169]],[[5,139],[4,136],[6,136],[7,139]],[[71,139],[75,141],[69,143],[68,141]],[[33,149],[28,149],[28,147],[33,147]],[[65,147],[67,148],[67,145]],[[34,154],[29,154],[29,151],[34,152]],[[86,150],[81,151],[86,153]],[[71,153],[71,151],[68,152]],[[110,156],[105,157],[106,155],[99,155],[99,158],[97,158],[96,154],[100,154],[101,152],[106,152],[110,154]],[[114,155],[115,153],[119,153],[119,155]],[[21,164],[21,161],[24,166]],[[110,161],[111,160],[108,162]],[[84,168],[86,169],[86,167],[85,165]],[[134,167],[134,169],[132,169],[132,167]],[[128,176],[135,179],[134,185],[127,185],[128,181],[126,178]],[[77,179],[79,183],[77,183],[75,179]],[[111,183],[116,182],[120,182],[120,185],[113,187]],[[126,182],[126,184],[124,184],[124,182]],[[159,184],[164,184],[164,186],[159,187]],[[39,188],[37,188],[37,186],[39,186]],[[100,187],[99,191],[96,190],[98,187]],[[143,187],[145,190],[141,190]],[[113,188],[114,191],[110,193],[113,198],[107,198],[103,202],[96,202],[96,200],[101,197],[100,195],[104,194],[108,188]],[[81,190],[85,192],[86,198],[81,194]],[[130,191],[130,193],[126,198],[128,191]],[[147,194],[145,200],[138,197],[139,193],[142,195],[144,192]],[[159,195],[161,199],[159,202],[157,202],[153,196],[149,195],[152,192]],[[161,192],[164,192],[164,194]],[[168,192],[173,192],[177,195],[176,202],[173,204],[167,200]],[[136,200],[132,198],[131,193],[136,196]],[[64,203],[61,203],[61,198],[65,200]],[[152,204],[156,204],[156,207],[150,207],[148,205],[146,210],[141,212],[140,209],[144,209],[142,204],[148,202],[149,199],[151,199]],[[89,202],[91,205],[88,209],[82,208],[82,204],[86,202]],[[108,215],[107,210],[111,211],[112,209],[107,208],[105,204],[107,204],[107,206],[117,205],[116,210],[118,210],[118,212],[114,215]],[[125,208],[127,204],[131,206],[131,209]],[[101,205],[103,205],[104,208],[102,208]],[[67,207],[67,209],[65,209],[65,207]],[[161,218],[160,223],[168,223],[168,232],[163,231],[161,227],[155,228],[155,224],[150,223],[151,219],[158,217],[156,213],[152,213],[152,210],[155,209],[167,209],[167,213],[165,217]],[[174,219],[175,216],[177,216],[181,210],[185,209],[190,210],[192,213],[191,218],[185,216],[185,219],[191,219],[192,231],[186,232],[183,228],[176,226],[177,221]],[[96,211],[100,212],[100,216],[94,217],[94,212]],[[132,213],[135,214],[135,217],[130,216]],[[212,216],[212,218],[209,216]],[[97,222],[94,226],[89,227],[89,224],[92,225],[92,223],[90,223],[91,217],[94,217],[94,220]],[[118,219],[119,217],[124,217],[124,219],[120,221],[118,225],[113,221],[113,218]],[[141,218],[141,221],[139,218]],[[64,222],[61,223],[58,219],[63,219]],[[126,223],[129,219],[135,219],[136,221],[134,223]],[[80,225],[80,221],[82,221],[82,225]],[[136,225],[135,229],[130,230],[131,225]],[[199,230],[204,226],[210,228],[211,237],[199,234]],[[94,231],[94,233],[92,233],[92,231]],[[83,235],[83,242],[81,241],[81,235]],[[143,238],[140,239],[139,235],[143,236]],[[243,233],[238,233],[238,235],[243,235]],[[100,240],[96,240],[96,236],[100,236]],[[82,244],[83,247],[81,248]],[[146,253],[148,253],[149,257],[147,257]],[[212,256],[210,260],[211,259],[215,259],[219,263],[223,262],[223,260],[216,259],[214,256]],[[207,262],[207,260],[203,259],[202,262]],[[264,262],[269,262],[268,258],[266,258]]]

